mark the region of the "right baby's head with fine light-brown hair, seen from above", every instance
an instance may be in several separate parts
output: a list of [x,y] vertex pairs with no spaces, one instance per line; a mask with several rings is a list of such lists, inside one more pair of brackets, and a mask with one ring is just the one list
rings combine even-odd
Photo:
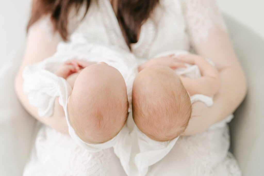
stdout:
[[169,67],[151,66],[134,80],[132,110],[140,131],[153,140],[168,141],[184,132],[192,108],[177,74]]

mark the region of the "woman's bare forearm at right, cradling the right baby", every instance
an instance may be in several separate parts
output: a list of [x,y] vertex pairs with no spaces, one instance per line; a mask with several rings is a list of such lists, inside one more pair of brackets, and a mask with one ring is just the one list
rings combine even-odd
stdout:
[[222,81],[214,104],[207,107],[201,102],[193,104],[192,117],[182,135],[195,135],[232,114],[246,95],[246,78],[242,68],[225,67],[220,70]]

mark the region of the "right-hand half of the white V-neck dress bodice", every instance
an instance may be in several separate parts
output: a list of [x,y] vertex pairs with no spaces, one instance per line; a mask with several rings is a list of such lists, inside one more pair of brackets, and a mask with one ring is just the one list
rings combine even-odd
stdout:
[[180,1],[163,0],[142,25],[139,41],[132,51],[139,57],[151,58],[159,53],[189,48]]

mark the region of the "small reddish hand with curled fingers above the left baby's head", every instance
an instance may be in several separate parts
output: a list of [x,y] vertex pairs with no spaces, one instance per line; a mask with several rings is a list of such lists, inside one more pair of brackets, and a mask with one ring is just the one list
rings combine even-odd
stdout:
[[61,64],[58,68],[58,70],[55,72],[55,75],[63,77],[66,79],[73,73],[77,73],[81,71],[83,68],[88,67],[92,64],[95,64],[95,62],[86,62],[86,61],[80,61],[80,60],[70,60],[67,62],[64,62]]

